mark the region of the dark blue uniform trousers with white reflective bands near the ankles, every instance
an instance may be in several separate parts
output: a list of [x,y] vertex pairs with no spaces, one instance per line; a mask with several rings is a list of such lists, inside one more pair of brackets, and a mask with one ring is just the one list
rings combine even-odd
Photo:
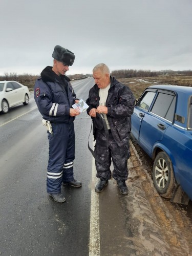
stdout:
[[73,177],[75,159],[74,123],[51,123],[53,134],[48,132],[49,161],[47,171],[47,192],[60,193],[62,182]]

